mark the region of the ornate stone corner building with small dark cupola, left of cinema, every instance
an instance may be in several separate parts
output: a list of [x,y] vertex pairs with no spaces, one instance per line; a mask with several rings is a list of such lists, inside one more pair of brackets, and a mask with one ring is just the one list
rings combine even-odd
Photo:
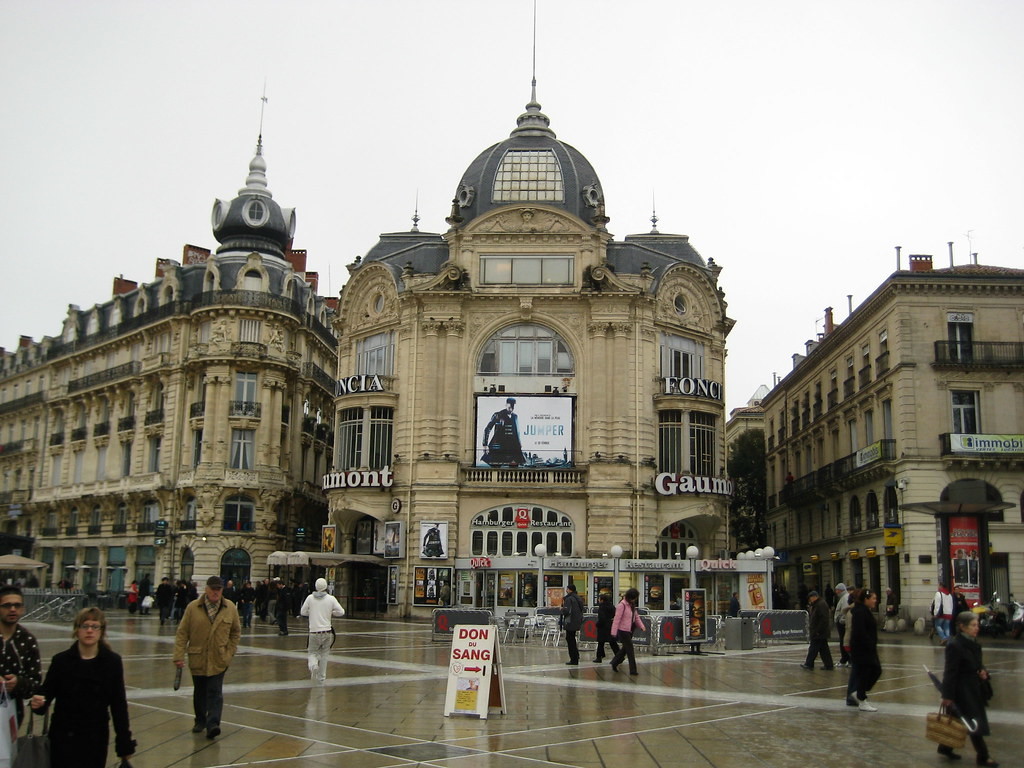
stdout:
[[109,301],[71,305],[58,337],[0,355],[0,386],[29,395],[0,410],[0,428],[36,425],[0,471],[25,487],[38,469],[14,525],[50,566],[44,587],[116,605],[132,581],[165,575],[241,586],[271,553],[311,544],[305,531],[318,539],[334,306],[292,249],[262,141],[212,228],[216,252],[185,246],[150,283],[115,278]]

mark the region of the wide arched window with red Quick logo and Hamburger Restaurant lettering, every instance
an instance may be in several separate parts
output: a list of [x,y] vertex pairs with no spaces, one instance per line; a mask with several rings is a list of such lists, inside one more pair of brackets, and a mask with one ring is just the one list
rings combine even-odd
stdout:
[[514,557],[532,555],[543,544],[552,557],[575,553],[575,525],[566,514],[547,507],[494,507],[470,523],[470,549],[481,555]]

